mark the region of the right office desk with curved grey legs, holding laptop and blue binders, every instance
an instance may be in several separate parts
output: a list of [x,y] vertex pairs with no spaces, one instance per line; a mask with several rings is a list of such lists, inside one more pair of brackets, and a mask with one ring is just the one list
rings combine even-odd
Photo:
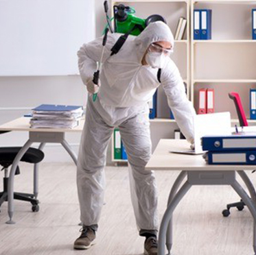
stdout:
[[[157,145],[152,158],[146,165],[148,170],[181,170],[170,191],[167,209],[163,215],[159,230],[159,255],[165,254],[165,240],[170,254],[172,249],[172,214],[183,196],[192,185],[230,185],[243,199],[254,219],[253,250],[256,255],[256,193],[253,184],[244,170],[254,170],[249,165],[207,165],[202,155],[173,154],[172,149],[189,149],[185,140],[162,139]],[[246,184],[250,196],[235,179],[238,173]],[[183,186],[181,183],[185,180]],[[181,187],[180,187],[181,186]]]

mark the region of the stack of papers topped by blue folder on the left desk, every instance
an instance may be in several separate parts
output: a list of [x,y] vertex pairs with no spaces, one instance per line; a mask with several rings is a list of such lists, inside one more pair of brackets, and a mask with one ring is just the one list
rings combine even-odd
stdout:
[[73,128],[83,114],[82,106],[42,104],[32,110],[32,128]]

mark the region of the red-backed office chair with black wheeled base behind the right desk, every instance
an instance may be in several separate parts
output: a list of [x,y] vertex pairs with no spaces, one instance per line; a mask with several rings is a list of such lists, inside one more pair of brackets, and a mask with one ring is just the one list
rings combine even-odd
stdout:
[[[234,101],[235,109],[237,111],[237,116],[238,116],[238,119],[239,119],[240,126],[241,127],[247,127],[248,126],[248,122],[246,120],[246,115],[244,113],[244,108],[242,106],[240,95],[238,93],[231,92],[231,93],[229,93],[229,98]],[[236,207],[237,210],[243,210],[245,205],[246,204],[244,204],[242,199],[240,200],[240,202],[236,202],[236,203],[232,203],[232,204],[227,204],[226,205],[226,209],[222,210],[222,215],[224,217],[228,217],[230,215],[230,208]]]

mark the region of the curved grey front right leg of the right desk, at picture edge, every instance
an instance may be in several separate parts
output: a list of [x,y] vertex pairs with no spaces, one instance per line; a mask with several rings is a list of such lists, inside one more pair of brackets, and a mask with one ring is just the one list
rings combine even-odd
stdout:
[[255,202],[253,202],[253,200],[247,195],[247,193],[244,191],[244,189],[242,188],[242,186],[240,186],[240,184],[235,181],[233,184],[231,184],[231,186],[233,187],[233,189],[236,191],[236,193],[238,195],[240,195],[240,197],[242,198],[242,200],[244,201],[244,204],[246,204],[246,206],[248,207],[248,209],[251,212],[251,215],[253,215],[253,219],[254,219],[254,225],[253,225],[253,251],[255,252],[256,255],[256,246],[255,246],[255,223],[256,223],[256,204]]

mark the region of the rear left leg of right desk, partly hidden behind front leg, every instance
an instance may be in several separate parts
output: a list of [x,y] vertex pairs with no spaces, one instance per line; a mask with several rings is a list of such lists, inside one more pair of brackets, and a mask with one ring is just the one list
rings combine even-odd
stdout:
[[[169,206],[170,203],[172,202],[172,199],[176,195],[178,188],[181,186],[181,182],[183,182],[186,176],[187,176],[187,171],[182,171],[176,178],[168,198],[167,206]],[[166,233],[166,247],[167,247],[168,254],[170,254],[172,249],[172,234],[173,233],[172,233],[172,217],[171,217],[170,222],[168,224],[167,233]]]

